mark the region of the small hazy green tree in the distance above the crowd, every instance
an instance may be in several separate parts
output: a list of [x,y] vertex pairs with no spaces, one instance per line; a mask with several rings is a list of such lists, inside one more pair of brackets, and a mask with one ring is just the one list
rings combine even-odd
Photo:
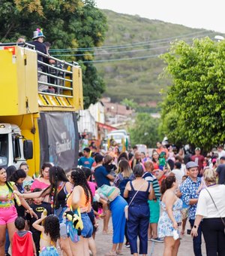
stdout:
[[156,142],[159,141],[159,123],[160,119],[153,118],[150,114],[136,114],[135,123],[129,129],[131,144],[144,144],[148,148],[155,148]]

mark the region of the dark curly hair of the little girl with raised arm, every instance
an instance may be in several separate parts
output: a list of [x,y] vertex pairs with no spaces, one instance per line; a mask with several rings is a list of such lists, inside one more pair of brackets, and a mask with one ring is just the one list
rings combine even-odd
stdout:
[[57,239],[60,238],[60,233],[59,233],[59,221],[58,217],[55,215],[49,215],[46,217],[44,224],[44,233],[46,235],[49,235],[51,240],[53,242],[57,242]]

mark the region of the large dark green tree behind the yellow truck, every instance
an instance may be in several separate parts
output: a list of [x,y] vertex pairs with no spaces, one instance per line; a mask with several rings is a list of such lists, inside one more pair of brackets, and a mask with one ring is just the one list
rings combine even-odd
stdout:
[[0,26],[1,42],[17,41],[20,35],[30,40],[33,31],[42,28],[52,49],[64,49],[58,55],[69,49],[72,51],[65,59],[80,62],[85,108],[101,98],[105,90],[103,79],[92,63],[83,63],[94,58],[94,51],[77,50],[97,47],[104,41],[107,18],[95,7],[94,0],[1,0]]

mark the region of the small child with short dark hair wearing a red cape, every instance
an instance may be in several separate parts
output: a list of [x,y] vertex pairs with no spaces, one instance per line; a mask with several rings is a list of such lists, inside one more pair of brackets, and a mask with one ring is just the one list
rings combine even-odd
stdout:
[[15,220],[17,232],[13,235],[12,252],[13,256],[36,255],[34,240],[30,231],[25,230],[26,222],[24,218],[17,217]]

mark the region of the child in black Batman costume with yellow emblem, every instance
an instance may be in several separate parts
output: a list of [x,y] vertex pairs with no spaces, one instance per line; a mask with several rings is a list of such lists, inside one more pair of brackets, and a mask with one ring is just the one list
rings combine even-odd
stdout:
[[[40,188],[34,188],[33,192],[39,192],[41,191]],[[34,212],[36,213],[37,217],[40,218],[42,212],[46,209],[47,212],[47,216],[51,214],[52,212],[52,208],[50,206],[49,203],[45,203],[42,202],[43,201],[43,197],[37,197],[34,198],[33,203],[31,203],[31,208],[34,210]],[[36,246],[36,251],[37,251],[37,256],[39,255],[39,251],[40,251],[40,231],[36,230],[32,224],[37,221],[36,218],[31,218],[31,215],[27,215],[26,219],[29,221],[29,226],[30,226],[30,231],[32,233],[33,239],[34,239],[34,243]]]

